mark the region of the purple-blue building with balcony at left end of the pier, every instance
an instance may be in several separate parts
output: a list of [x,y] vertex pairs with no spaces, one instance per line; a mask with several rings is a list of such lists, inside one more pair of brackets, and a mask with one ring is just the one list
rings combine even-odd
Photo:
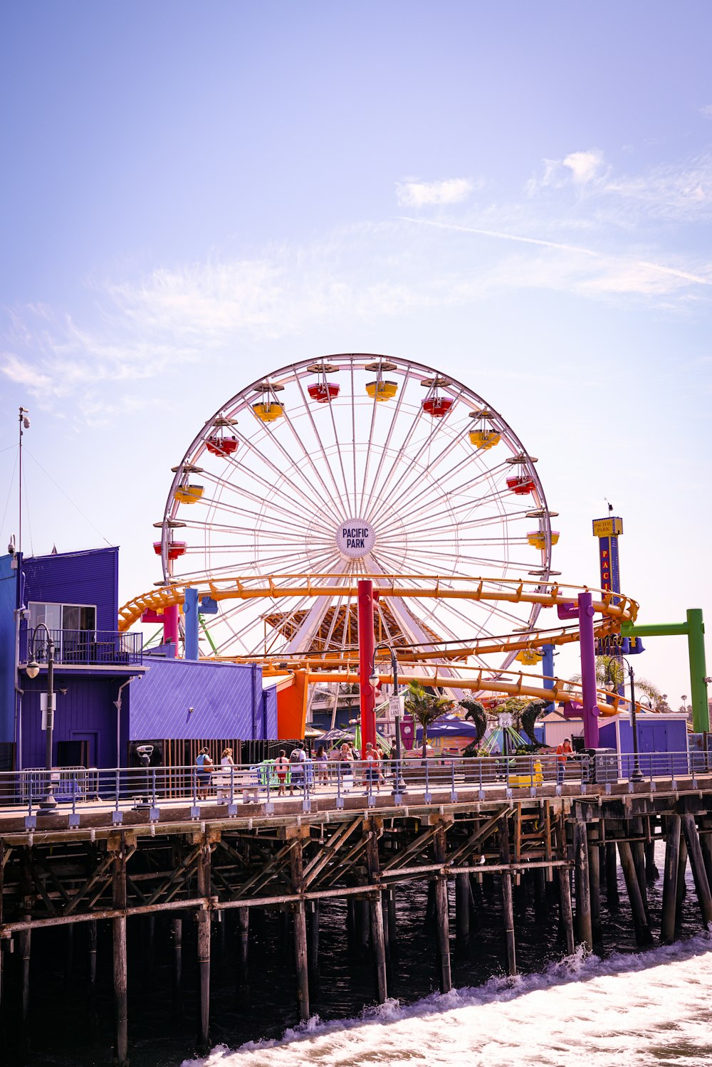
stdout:
[[154,763],[192,763],[201,744],[231,744],[239,759],[243,742],[276,737],[276,691],[259,667],[146,655],[117,614],[115,547],[0,558],[0,769],[45,766],[47,631],[54,766],[126,766],[141,742]]

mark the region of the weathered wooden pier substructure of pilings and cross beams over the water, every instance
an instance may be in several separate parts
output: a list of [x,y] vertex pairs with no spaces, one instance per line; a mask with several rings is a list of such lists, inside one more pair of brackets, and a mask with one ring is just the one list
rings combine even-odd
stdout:
[[[239,982],[250,981],[250,927],[255,908],[279,909],[290,921],[296,960],[295,1015],[311,1013],[319,971],[319,905],[349,903],[349,933],[374,967],[374,999],[389,996],[389,959],[398,929],[394,894],[429,885],[436,930],[433,969],[440,989],[452,985],[450,952],[466,955],[473,917],[488,924],[482,883],[501,895],[503,966],[517,973],[517,894],[526,886],[535,905],[558,920],[561,955],[595,947],[602,898],[617,901],[618,865],[639,945],[676,937],[687,862],[700,928],[712,922],[712,776],[590,784],[567,781],[536,789],[489,786],[409,790],[402,802],[383,792],[240,805],[227,816],[215,801],[152,812],[131,810],[116,825],[111,812],[88,813],[79,827],[43,816],[28,829],[7,809],[0,814],[0,999],[12,999],[13,1024],[26,1028],[32,996],[34,939],[48,928],[88,924],[90,983],[96,976],[97,923],[110,923],[115,1003],[114,1062],[129,1058],[127,924],[170,918],[174,994],[181,984],[183,923],[195,920],[200,998],[199,1047],[210,1041],[210,955],[217,919],[236,917]],[[373,802],[371,802],[373,800]],[[156,814],[155,812],[153,813]],[[656,876],[651,845],[665,842],[662,923],[651,928],[647,886]],[[448,880],[454,880],[450,914]],[[145,917],[148,917],[146,919]],[[501,918],[500,918],[501,917]],[[192,944],[192,939],[191,939]],[[92,978],[92,975],[94,976]],[[291,981],[284,974],[275,981]],[[17,1007],[17,1012],[15,1008]],[[10,1013],[4,1012],[7,1020]],[[26,1044],[28,1037],[26,1035]]]

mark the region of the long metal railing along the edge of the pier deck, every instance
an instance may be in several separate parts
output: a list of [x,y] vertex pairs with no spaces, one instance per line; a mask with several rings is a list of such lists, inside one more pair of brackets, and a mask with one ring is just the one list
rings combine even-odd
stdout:
[[[712,753],[711,753],[712,755]],[[0,821],[25,814],[26,828],[36,826],[37,813],[47,810],[46,797],[53,798],[52,813],[69,816],[68,826],[78,827],[80,816],[111,812],[112,823],[121,824],[131,810],[145,810],[151,822],[172,817],[204,818],[201,806],[218,807],[217,816],[237,815],[238,805],[259,805],[260,814],[271,814],[274,803],[290,798],[311,811],[370,808],[396,803],[455,803],[458,797],[486,799],[488,793],[507,796],[537,796],[563,791],[567,795],[589,785],[604,786],[636,782],[655,787],[656,780],[671,782],[712,773],[710,761],[700,766],[687,752],[642,753],[638,768],[627,753],[582,753],[561,761],[555,754],[493,755],[482,758],[409,757],[394,760],[351,761],[344,759],[278,766],[266,760],[257,764],[231,766],[117,767],[109,769],[57,767],[51,771],[29,768],[0,773]],[[526,791],[526,792],[524,792]],[[380,798],[380,799],[379,799]],[[211,817],[216,817],[211,814]],[[41,815],[42,818],[42,815]]]

